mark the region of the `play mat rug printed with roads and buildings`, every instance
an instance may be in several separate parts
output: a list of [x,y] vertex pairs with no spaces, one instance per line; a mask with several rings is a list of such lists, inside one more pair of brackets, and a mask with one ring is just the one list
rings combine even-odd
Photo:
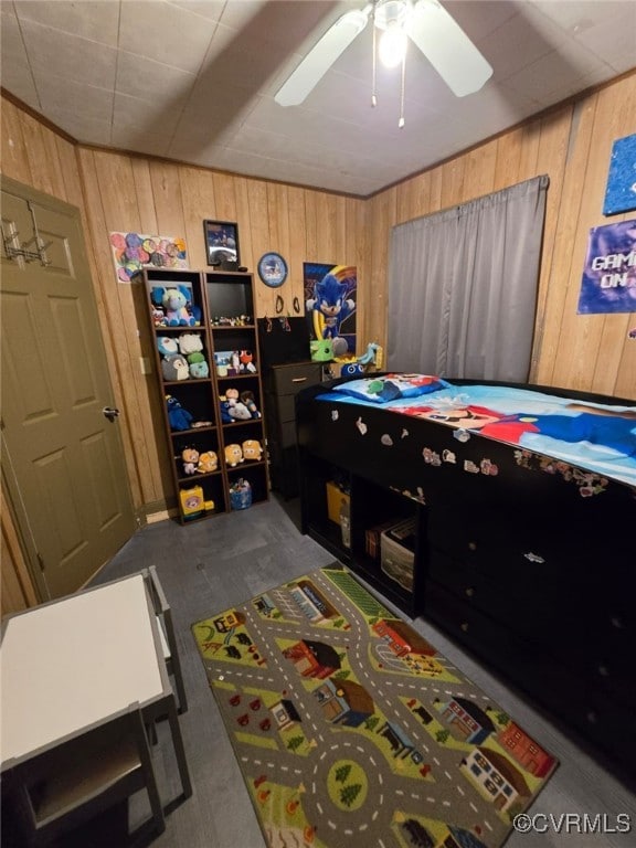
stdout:
[[192,632],[269,848],[498,848],[556,766],[337,563]]

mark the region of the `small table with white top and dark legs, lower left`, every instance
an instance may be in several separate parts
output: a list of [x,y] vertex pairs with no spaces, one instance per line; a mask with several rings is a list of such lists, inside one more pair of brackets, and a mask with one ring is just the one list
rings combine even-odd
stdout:
[[168,717],[192,794],[157,621],[141,574],[9,616],[0,647],[1,770],[138,702]]

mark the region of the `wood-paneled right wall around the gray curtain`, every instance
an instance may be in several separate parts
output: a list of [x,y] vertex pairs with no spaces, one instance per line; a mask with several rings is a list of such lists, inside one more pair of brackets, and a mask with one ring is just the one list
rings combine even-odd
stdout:
[[636,399],[636,339],[628,338],[636,315],[576,315],[590,229],[636,218],[602,213],[612,145],[633,132],[636,74],[370,199],[369,290],[382,308],[367,316],[369,337],[386,335],[392,226],[547,173],[530,381]]

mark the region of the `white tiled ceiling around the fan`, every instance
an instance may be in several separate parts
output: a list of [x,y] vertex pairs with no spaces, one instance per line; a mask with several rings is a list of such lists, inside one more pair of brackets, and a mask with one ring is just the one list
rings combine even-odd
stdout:
[[378,68],[371,25],[301,106],[274,94],[360,2],[1,0],[2,87],[83,144],[367,197],[636,67],[636,0],[444,0],[494,67],[455,97],[410,46]]

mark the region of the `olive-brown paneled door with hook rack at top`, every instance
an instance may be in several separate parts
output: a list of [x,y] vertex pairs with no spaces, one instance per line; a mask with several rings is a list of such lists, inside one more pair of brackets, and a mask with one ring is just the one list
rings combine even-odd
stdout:
[[3,178],[2,235],[2,469],[35,584],[59,597],[130,538],[132,504],[80,212]]

